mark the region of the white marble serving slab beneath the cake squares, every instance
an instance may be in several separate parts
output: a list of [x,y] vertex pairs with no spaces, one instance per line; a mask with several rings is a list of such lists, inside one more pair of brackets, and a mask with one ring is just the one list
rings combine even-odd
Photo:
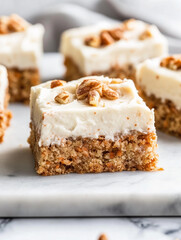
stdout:
[[[43,79],[58,77],[60,59],[46,56]],[[166,216],[181,214],[181,140],[158,134],[158,172],[38,176],[27,144],[29,107],[11,104],[0,145],[0,216]]]

